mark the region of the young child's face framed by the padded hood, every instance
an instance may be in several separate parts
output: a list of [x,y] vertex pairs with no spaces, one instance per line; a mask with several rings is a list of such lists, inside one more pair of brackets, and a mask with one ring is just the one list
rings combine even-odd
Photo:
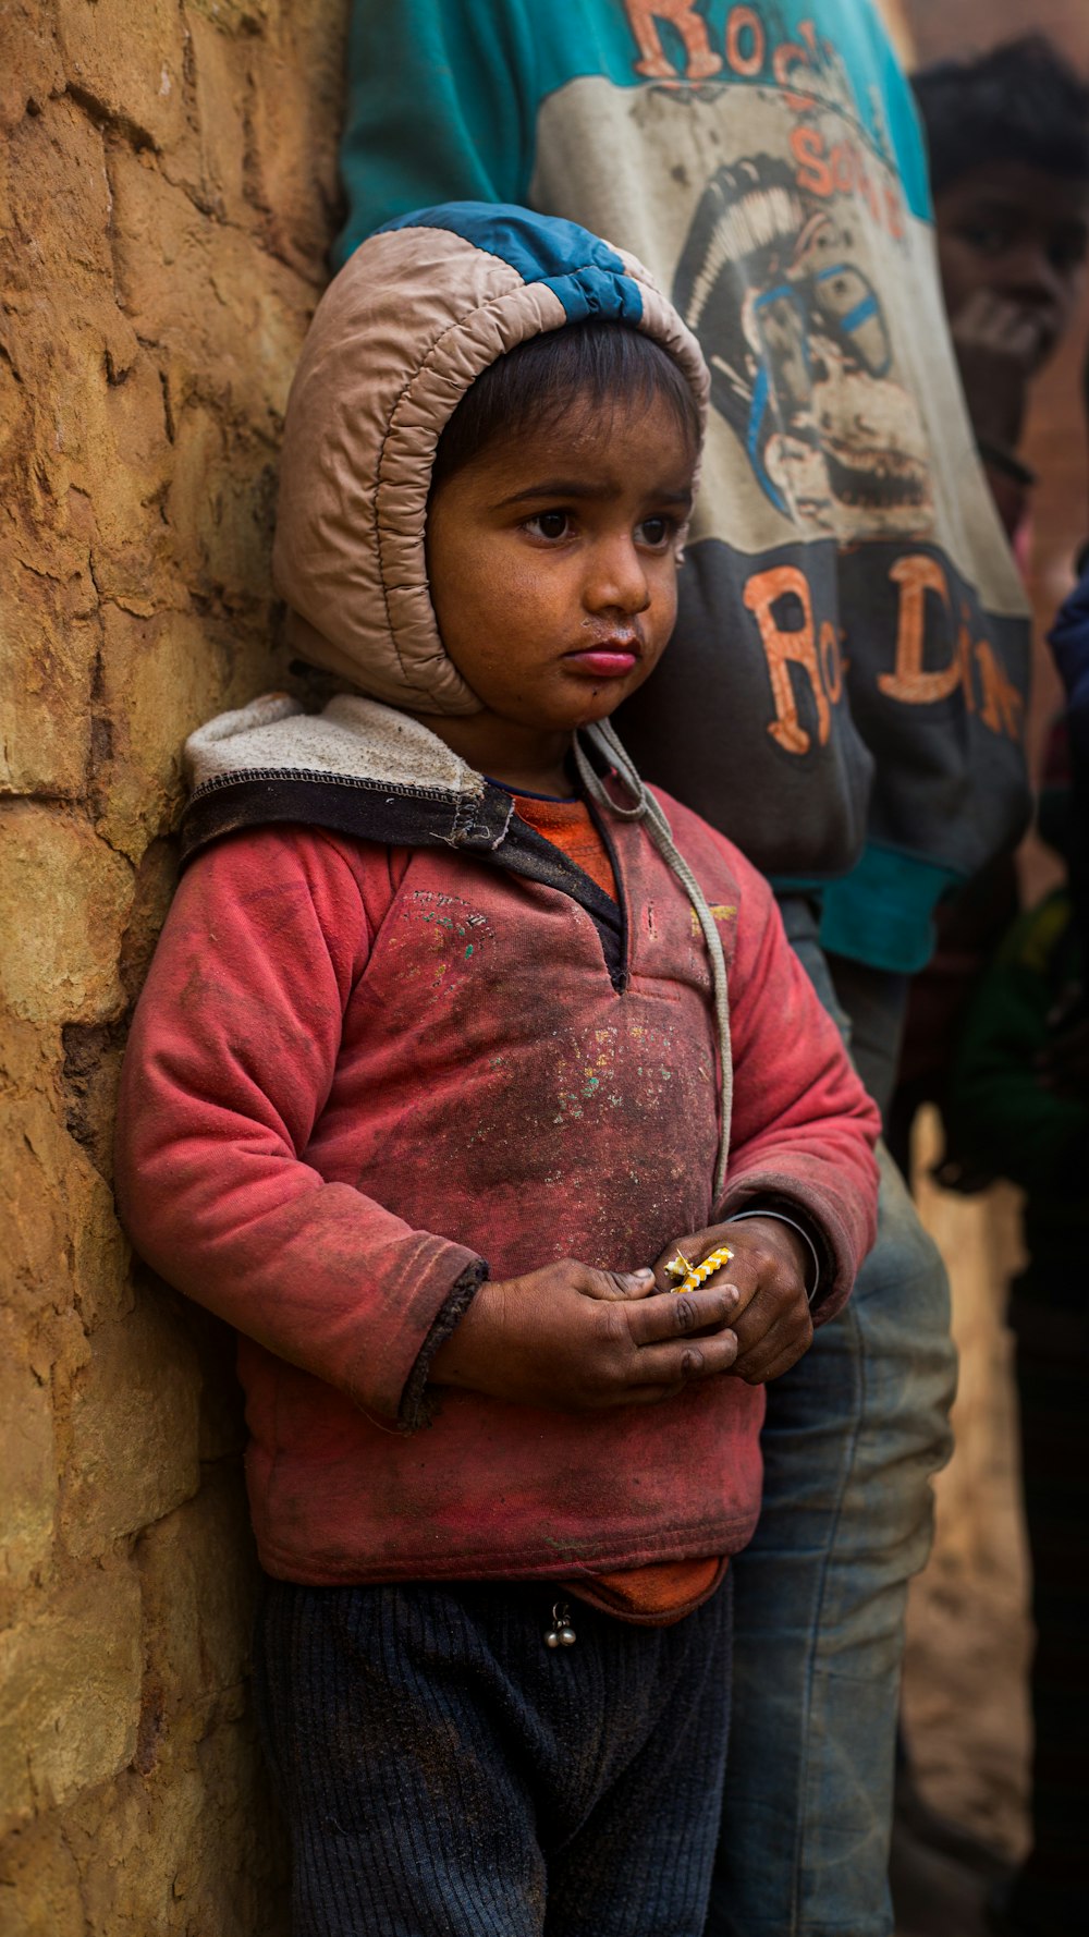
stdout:
[[576,397],[560,422],[494,440],[436,488],[430,597],[482,707],[459,721],[477,767],[504,779],[512,736],[570,736],[643,684],[676,618],[692,469],[661,399],[608,411]]

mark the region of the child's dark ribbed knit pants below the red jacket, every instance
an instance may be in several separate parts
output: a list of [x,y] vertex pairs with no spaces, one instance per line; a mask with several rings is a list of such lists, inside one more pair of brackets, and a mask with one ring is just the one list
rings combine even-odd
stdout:
[[269,1583],[256,1697],[293,1937],[700,1937],[729,1726],[727,1584],[676,1627],[556,1588]]

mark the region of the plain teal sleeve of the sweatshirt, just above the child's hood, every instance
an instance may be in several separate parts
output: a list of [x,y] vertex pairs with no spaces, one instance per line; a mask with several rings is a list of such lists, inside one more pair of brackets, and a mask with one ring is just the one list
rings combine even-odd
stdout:
[[523,0],[355,0],[347,64],[333,267],[411,209],[527,200],[537,54]]

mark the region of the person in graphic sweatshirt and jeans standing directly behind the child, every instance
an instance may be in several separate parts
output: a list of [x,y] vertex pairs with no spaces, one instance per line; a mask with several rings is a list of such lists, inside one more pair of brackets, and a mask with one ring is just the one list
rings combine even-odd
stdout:
[[[632,248],[700,337],[676,639],[618,730],[773,879],[884,1106],[934,905],[1027,817],[1029,637],[876,10],[353,0],[341,172],[337,261],[419,203],[529,201]],[[884,1158],[849,1313],[769,1395],[713,1937],[891,1933],[903,1606],[951,1383],[944,1269]]]

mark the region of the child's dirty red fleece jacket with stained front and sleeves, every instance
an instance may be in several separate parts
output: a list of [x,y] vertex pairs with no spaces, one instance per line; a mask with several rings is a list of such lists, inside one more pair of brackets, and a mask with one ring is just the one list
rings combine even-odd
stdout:
[[585,1416],[442,1391],[405,1430],[481,1259],[634,1269],[771,1195],[824,1236],[820,1319],[872,1244],[876,1112],[767,883],[665,806],[731,965],[719,1205],[705,947],[641,827],[610,823],[622,992],[570,895],[453,850],[275,825],[182,877],[126,1056],[118,1193],[149,1263],[242,1335],[269,1573],[572,1579],[748,1540],[763,1393],[740,1379]]

